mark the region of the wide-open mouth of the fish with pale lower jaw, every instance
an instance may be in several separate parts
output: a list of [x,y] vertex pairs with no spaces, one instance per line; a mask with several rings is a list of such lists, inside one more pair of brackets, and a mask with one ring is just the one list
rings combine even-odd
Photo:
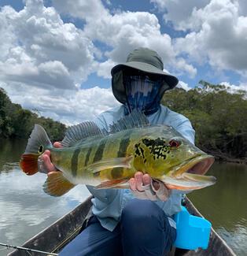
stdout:
[[215,161],[212,155],[200,155],[175,166],[168,176],[162,179],[170,189],[191,191],[216,183],[216,177],[205,176]]

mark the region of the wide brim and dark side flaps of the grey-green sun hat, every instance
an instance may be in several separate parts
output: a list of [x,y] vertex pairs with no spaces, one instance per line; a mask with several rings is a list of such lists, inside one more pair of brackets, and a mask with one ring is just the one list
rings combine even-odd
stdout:
[[126,102],[126,95],[125,95],[125,89],[123,86],[123,77],[122,77],[123,75],[122,75],[121,71],[123,71],[123,69],[126,69],[126,68],[138,69],[143,72],[148,72],[151,74],[156,74],[156,75],[162,76],[164,79],[164,84],[163,84],[162,88],[160,88],[161,98],[164,94],[164,91],[171,90],[179,83],[179,80],[175,76],[171,76],[167,72],[157,69],[155,66],[150,65],[145,62],[127,61],[127,63],[122,63],[119,65],[116,65],[111,70],[112,93],[115,96],[115,98],[123,104]]

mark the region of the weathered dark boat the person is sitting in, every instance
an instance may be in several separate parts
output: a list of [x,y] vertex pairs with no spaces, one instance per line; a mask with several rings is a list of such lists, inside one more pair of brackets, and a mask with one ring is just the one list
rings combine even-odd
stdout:
[[[183,205],[186,206],[186,209],[190,214],[202,217],[201,213],[199,213],[193,203],[190,202],[189,198],[184,199]],[[91,197],[89,197],[84,202],[79,204],[79,206],[77,206],[74,210],[65,214],[65,216],[51,224],[50,227],[44,229],[42,232],[39,232],[39,234],[29,239],[26,243],[24,243],[24,245],[22,245],[22,247],[47,251],[50,253],[59,253],[59,251],[65,247],[66,244],[72,241],[72,239],[74,239],[79,234],[83,221],[87,217],[87,213],[89,212],[91,206]],[[8,254],[8,256],[28,255],[43,256],[44,254],[25,250],[14,250]],[[170,255],[231,256],[236,254],[234,254],[234,251],[212,228],[208,248],[206,250],[202,250],[201,248],[198,248],[197,250],[183,250],[179,248],[173,248]],[[49,256],[49,254],[47,254],[47,256]]]

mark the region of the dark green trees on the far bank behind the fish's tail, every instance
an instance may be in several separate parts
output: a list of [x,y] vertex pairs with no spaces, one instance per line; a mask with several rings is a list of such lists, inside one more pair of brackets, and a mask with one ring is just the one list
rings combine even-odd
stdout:
[[35,124],[41,124],[51,140],[61,140],[65,135],[65,124],[50,118],[39,117],[19,104],[14,104],[0,88],[0,137],[28,138]]

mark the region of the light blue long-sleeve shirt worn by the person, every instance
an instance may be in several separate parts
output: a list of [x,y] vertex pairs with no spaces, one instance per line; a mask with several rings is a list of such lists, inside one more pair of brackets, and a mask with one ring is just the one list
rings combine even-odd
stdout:
[[[100,128],[107,129],[109,124],[118,121],[121,117],[124,117],[124,106],[101,113],[94,122]],[[190,121],[181,114],[171,111],[168,107],[160,105],[160,109],[147,118],[150,124],[167,124],[172,126],[186,139],[190,140],[191,143],[194,143],[194,129]],[[92,199],[94,215],[98,217],[102,227],[112,231],[120,221],[123,207],[134,198],[134,195],[128,189],[97,190],[91,186],[87,186],[87,188],[94,195]],[[156,201],[156,203],[164,210],[164,213],[171,217],[181,210],[181,198],[181,192],[172,190],[171,196],[167,201]]]

